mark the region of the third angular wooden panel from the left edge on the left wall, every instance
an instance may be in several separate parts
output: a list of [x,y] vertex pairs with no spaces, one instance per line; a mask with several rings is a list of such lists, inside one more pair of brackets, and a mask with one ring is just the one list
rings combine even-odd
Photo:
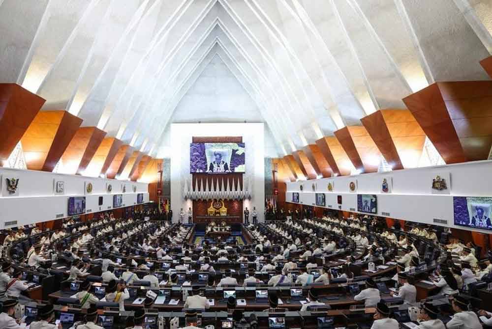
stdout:
[[105,132],[96,127],[79,128],[63,152],[63,173],[80,175],[86,169],[105,135]]

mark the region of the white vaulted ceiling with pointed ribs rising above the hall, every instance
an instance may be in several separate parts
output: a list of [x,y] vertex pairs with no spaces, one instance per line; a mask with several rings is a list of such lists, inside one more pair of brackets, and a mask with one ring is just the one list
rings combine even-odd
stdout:
[[491,0],[0,0],[0,82],[158,156],[170,123],[214,120],[183,102],[218,56],[283,155],[429,83],[488,79],[491,22]]

